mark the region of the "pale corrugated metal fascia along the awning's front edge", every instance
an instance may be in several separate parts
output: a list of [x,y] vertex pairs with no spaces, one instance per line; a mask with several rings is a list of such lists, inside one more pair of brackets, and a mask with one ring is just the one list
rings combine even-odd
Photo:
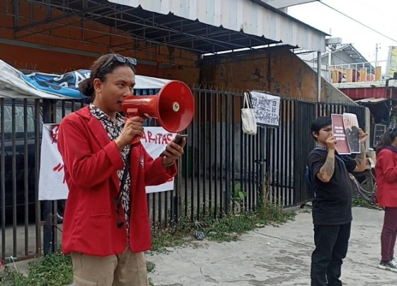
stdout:
[[[174,15],[274,42],[325,51],[325,35],[260,0],[108,0],[115,4]],[[181,27],[183,29],[183,27]]]

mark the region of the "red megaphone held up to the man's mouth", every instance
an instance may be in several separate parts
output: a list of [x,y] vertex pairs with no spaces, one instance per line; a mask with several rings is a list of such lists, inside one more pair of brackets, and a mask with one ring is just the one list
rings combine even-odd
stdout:
[[[193,120],[194,98],[189,86],[169,81],[157,96],[125,96],[121,108],[128,117],[156,118],[168,132],[180,132]],[[131,144],[138,142],[135,137]]]

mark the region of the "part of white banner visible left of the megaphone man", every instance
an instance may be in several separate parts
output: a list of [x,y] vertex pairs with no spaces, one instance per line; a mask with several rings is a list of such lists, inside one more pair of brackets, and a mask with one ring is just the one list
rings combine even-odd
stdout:
[[63,161],[57,148],[59,124],[44,124],[41,141],[39,200],[65,200],[69,190],[65,182]]

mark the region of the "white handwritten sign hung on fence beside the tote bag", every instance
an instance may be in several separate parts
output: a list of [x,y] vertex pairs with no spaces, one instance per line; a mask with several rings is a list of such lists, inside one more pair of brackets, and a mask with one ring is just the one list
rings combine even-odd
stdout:
[[268,93],[250,91],[252,108],[255,108],[255,119],[258,125],[279,126],[280,98]]

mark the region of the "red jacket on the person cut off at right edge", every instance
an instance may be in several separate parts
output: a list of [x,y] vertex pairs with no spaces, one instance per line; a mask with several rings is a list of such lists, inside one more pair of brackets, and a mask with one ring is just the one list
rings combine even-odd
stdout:
[[376,198],[381,207],[397,207],[397,154],[382,149],[376,156]]

